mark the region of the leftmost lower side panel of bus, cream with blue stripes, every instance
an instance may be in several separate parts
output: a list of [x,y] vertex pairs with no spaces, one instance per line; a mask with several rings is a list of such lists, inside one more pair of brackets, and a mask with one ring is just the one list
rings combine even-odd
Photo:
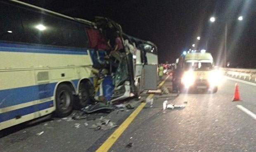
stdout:
[[38,117],[36,104],[38,91],[32,70],[0,71],[0,129]]

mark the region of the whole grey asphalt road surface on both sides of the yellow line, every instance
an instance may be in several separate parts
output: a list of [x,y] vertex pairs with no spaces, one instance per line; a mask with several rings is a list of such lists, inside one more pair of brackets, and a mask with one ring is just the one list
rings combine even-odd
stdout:
[[[152,107],[146,104],[142,108],[119,138],[111,143],[109,152],[255,152],[256,86],[238,82],[242,101],[232,102],[235,83],[225,80],[215,94],[183,92],[178,97],[175,94],[155,94]],[[168,78],[164,85],[169,87],[170,84]],[[164,100],[168,100],[168,104],[184,104],[186,107],[164,111]],[[92,116],[106,116],[122,126],[141,104],[134,99],[129,102],[135,105],[135,109],[119,112],[116,109],[110,114]],[[240,108],[237,105],[241,105]],[[241,107],[246,110],[242,111]],[[5,137],[0,138],[0,151],[93,152],[120,129],[90,129],[96,121],[68,122],[53,118],[30,126],[17,125],[3,130]],[[84,125],[85,122],[88,126]],[[81,127],[75,128],[75,123],[80,123]],[[41,131],[44,131],[42,135],[36,135]],[[129,143],[133,145],[127,147]]]

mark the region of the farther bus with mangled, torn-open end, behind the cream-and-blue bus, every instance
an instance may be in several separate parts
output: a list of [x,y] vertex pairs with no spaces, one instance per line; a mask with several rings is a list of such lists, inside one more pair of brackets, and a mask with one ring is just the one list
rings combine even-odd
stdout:
[[[98,96],[95,99],[104,96],[104,90],[111,90],[111,88],[113,89],[112,92],[109,92],[111,101],[138,96],[144,89],[156,89],[156,67],[158,64],[156,45],[123,33],[121,26],[109,18],[96,17],[95,25],[102,30],[106,41],[111,41],[111,39],[115,41],[116,37],[120,37],[123,45],[122,51],[109,58],[111,64],[107,66],[113,86],[100,84],[101,89],[96,93]],[[96,58],[100,59],[102,56],[97,55]],[[105,63],[100,68],[104,68],[107,64],[103,60],[100,62]],[[146,81],[150,83],[146,83]]]

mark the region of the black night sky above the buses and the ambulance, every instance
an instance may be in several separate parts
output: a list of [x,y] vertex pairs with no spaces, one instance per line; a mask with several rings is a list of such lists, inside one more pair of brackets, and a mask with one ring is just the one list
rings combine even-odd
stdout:
[[[21,1],[89,21],[94,16],[109,17],[128,35],[156,44],[159,62],[173,63],[196,44],[197,50],[207,47],[221,66],[227,23],[230,66],[256,68],[256,0]],[[216,17],[214,23],[209,21],[211,16]],[[242,21],[237,20],[239,16]]]

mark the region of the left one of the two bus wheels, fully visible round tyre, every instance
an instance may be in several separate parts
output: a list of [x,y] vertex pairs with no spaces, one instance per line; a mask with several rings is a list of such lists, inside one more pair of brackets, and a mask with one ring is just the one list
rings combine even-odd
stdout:
[[56,91],[56,115],[66,117],[73,111],[74,97],[69,85],[60,84]]

